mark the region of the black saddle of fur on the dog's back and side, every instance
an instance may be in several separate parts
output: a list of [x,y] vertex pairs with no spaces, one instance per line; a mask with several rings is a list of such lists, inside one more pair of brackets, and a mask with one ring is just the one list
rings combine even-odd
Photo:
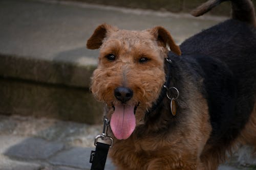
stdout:
[[183,69],[204,79],[202,93],[212,126],[208,143],[227,147],[245,126],[255,103],[256,29],[230,19],[180,47],[182,56],[169,57],[174,63],[187,63]]

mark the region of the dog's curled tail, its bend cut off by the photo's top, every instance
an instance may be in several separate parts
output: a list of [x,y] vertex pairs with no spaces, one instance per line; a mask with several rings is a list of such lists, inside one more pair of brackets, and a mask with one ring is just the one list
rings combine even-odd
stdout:
[[191,12],[194,16],[201,16],[224,1],[231,1],[232,18],[247,22],[256,27],[255,11],[251,0],[209,0]]

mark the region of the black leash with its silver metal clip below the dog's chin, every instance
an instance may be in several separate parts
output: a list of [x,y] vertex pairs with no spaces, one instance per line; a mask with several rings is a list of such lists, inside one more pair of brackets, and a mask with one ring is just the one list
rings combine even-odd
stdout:
[[[114,142],[113,138],[108,136],[109,125],[110,121],[104,118],[103,132],[101,135],[95,137],[94,145],[96,146],[96,149],[91,152],[91,170],[103,170],[105,167],[106,157],[108,156],[109,149],[113,147]],[[104,143],[98,142],[98,139],[101,139]]]

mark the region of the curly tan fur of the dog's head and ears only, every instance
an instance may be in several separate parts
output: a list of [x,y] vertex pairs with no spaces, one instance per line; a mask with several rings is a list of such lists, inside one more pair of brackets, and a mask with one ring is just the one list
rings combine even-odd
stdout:
[[[140,101],[140,108],[147,110],[157,99],[161,86],[165,81],[162,66],[167,48],[163,44],[169,44],[170,48],[180,55],[179,47],[174,45],[172,37],[161,27],[142,32],[112,31],[111,26],[101,25],[88,40],[87,47],[91,49],[94,49],[99,44],[94,44],[94,40],[103,40],[100,49],[99,66],[94,71],[91,90],[99,101],[111,106],[113,102],[118,102],[114,99],[114,88],[118,86],[131,87],[136,95],[129,102],[136,104],[137,101]],[[112,34],[110,34],[111,32]],[[97,36],[98,34],[100,36]],[[104,39],[101,38],[102,34],[106,34]],[[141,48],[142,45],[145,47]],[[105,58],[108,54],[117,55],[118,62],[113,64],[108,61]],[[143,56],[147,56],[152,62],[150,64],[138,63],[137,61]],[[149,68],[151,68],[151,71],[148,71]],[[155,77],[158,77],[158,81],[152,82],[151,80],[155,79]],[[140,117],[138,120],[142,118]]]

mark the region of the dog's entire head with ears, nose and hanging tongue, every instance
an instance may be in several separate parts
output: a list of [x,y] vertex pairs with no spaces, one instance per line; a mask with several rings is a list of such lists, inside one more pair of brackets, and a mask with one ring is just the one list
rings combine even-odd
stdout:
[[165,82],[166,45],[181,54],[162,27],[127,31],[106,24],[98,26],[87,41],[87,48],[100,48],[91,90],[111,108],[107,116],[116,138],[128,138],[158,99]]

